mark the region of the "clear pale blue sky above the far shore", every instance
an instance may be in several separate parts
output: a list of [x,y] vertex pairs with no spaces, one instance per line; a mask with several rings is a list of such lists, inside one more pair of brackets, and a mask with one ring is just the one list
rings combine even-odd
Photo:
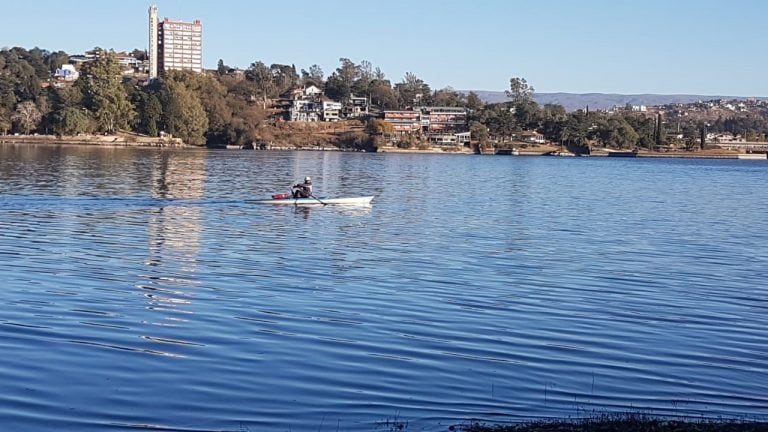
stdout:
[[[146,49],[134,0],[2,0],[0,47]],[[433,89],[768,96],[768,0],[157,0],[231,66],[346,57]]]

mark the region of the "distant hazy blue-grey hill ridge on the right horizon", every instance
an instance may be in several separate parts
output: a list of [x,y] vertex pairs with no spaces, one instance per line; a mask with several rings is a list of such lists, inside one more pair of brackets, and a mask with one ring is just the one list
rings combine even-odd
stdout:
[[[486,103],[498,103],[509,101],[509,98],[500,91],[473,90]],[[469,93],[465,91],[464,93]],[[589,107],[590,109],[608,109],[613,106],[631,105],[665,105],[669,103],[692,103],[712,99],[749,99],[738,96],[711,96],[711,95],[659,95],[659,94],[613,94],[613,93],[534,93],[533,99],[539,104],[560,104],[568,111]],[[765,98],[755,98],[765,99]]]

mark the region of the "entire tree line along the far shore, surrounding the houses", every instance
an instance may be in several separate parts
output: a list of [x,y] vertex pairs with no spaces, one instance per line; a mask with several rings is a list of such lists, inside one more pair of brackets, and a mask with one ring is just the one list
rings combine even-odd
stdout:
[[[141,85],[121,77],[114,52],[94,51],[95,59],[82,64],[73,85],[42,86],[68,61],[65,52],[18,47],[0,50],[0,133],[132,131],[159,136],[165,132],[193,145],[247,145],[260,139],[260,128],[270,126],[275,115],[271,101],[297,87],[315,85],[327,97],[342,102],[353,95],[366,97],[379,110],[465,107],[473,139],[481,145],[492,141],[505,145],[530,130],[542,133],[548,141],[577,149],[588,145],[651,149],[667,141],[660,116],[630,111],[608,114],[586,108],[566,112],[557,104],[539,106],[533,100],[534,88],[520,77],[510,78],[510,100],[497,104],[485,104],[471,91],[451,87],[432,90],[411,72],[393,83],[370,62],[355,63],[348,58],[340,58],[339,66],[327,77],[318,65],[297,71],[295,65],[268,66],[261,61],[251,63],[240,75],[219,60],[213,73],[169,71]],[[368,133],[386,131],[382,122],[368,122]],[[694,120],[678,125],[688,140],[698,137],[703,127],[765,136],[768,120],[753,116],[720,119],[706,126]]]

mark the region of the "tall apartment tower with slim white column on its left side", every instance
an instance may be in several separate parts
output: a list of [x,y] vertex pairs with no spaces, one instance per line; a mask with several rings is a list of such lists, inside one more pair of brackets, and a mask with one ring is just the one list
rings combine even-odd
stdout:
[[[154,59],[154,61],[153,61]],[[149,8],[149,74],[156,78],[167,70],[203,71],[203,25],[157,19],[157,7]]]

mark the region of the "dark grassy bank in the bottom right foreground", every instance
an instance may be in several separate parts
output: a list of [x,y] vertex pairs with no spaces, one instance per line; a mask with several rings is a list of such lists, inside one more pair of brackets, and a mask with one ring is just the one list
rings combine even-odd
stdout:
[[452,427],[462,432],[768,432],[766,421],[661,420],[644,416],[599,417],[578,421],[537,421],[515,425],[469,423]]

